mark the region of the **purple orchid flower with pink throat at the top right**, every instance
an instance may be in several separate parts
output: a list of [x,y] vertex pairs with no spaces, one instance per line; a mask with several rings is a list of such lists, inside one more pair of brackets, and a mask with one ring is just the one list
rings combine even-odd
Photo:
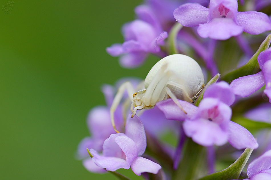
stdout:
[[198,3],[187,3],[175,9],[176,20],[186,27],[196,27],[203,38],[227,40],[243,31],[261,34],[271,30],[269,17],[260,12],[238,12],[236,0],[211,0],[209,9]]

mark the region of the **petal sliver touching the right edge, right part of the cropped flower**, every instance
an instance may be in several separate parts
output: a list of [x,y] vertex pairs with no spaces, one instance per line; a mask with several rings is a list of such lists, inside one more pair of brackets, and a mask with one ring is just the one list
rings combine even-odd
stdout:
[[271,60],[266,61],[262,66],[262,73],[265,80],[264,93],[268,96],[269,102],[271,102]]

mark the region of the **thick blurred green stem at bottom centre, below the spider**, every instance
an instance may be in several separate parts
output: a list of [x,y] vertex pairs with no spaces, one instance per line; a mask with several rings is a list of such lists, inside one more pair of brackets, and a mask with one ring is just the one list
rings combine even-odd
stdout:
[[183,149],[183,158],[174,171],[172,180],[193,180],[196,179],[202,171],[205,160],[205,148],[195,142],[191,138],[187,138],[187,142]]

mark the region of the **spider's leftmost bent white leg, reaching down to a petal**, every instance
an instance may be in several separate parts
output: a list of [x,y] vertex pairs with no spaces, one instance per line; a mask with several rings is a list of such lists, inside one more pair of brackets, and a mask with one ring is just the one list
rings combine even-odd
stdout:
[[116,125],[115,125],[115,120],[114,120],[114,112],[116,111],[118,105],[120,104],[120,100],[122,99],[123,97],[123,94],[124,94],[124,91],[127,90],[128,92],[128,97],[129,99],[131,100],[131,102],[133,102],[133,94],[135,92],[131,82],[124,82],[120,88],[118,89],[118,92],[113,100],[113,103],[110,107],[110,117],[111,117],[111,123],[112,123],[112,126],[114,128],[114,130],[117,132],[117,133],[120,133],[117,129],[116,129]]

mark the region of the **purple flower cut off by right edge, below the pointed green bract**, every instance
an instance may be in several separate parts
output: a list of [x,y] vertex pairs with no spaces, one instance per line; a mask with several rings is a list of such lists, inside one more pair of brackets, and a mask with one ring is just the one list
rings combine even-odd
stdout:
[[254,75],[239,77],[230,83],[230,87],[234,94],[248,97],[266,84],[264,93],[271,103],[271,48],[259,54],[258,63],[262,71]]

